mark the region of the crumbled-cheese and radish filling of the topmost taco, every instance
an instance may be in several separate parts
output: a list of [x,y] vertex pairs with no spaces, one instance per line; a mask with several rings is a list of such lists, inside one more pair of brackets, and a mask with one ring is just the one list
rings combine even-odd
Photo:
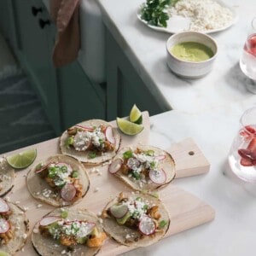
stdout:
[[67,129],[67,148],[88,152],[90,159],[115,149],[115,138],[111,126],[75,125]]

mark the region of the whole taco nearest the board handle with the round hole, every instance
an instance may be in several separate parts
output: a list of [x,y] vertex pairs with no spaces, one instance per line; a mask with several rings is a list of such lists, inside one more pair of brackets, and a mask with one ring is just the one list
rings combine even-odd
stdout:
[[132,189],[154,190],[172,181],[175,163],[172,155],[160,148],[137,145],[121,149],[108,171]]

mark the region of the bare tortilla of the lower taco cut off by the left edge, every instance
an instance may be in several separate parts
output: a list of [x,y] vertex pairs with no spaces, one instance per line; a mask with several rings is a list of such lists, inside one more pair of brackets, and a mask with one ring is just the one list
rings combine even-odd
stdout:
[[28,231],[28,220],[25,212],[21,210],[20,207],[17,207],[11,202],[7,202],[7,204],[12,211],[12,214],[9,216],[9,222],[14,232],[13,238],[7,245],[0,244],[0,251],[14,255],[25,245],[26,234]]

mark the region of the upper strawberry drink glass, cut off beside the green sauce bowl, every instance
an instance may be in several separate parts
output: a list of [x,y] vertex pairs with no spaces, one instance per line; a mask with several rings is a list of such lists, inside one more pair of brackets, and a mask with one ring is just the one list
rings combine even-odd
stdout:
[[252,27],[241,53],[241,71],[249,79],[256,81],[256,17],[252,20]]

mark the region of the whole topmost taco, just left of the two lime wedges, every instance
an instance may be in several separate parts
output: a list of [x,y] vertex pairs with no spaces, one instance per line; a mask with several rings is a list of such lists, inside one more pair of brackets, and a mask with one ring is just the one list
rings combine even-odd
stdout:
[[91,119],[74,125],[61,136],[61,153],[88,164],[111,160],[119,149],[120,135],[108,122]]

